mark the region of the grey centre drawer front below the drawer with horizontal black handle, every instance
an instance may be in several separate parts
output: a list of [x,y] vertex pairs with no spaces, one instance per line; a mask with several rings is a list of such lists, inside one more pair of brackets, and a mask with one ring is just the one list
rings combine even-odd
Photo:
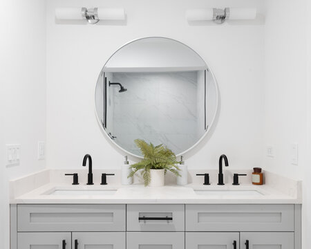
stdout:
[[183,249],[184,232],[126,232],[129,249]]

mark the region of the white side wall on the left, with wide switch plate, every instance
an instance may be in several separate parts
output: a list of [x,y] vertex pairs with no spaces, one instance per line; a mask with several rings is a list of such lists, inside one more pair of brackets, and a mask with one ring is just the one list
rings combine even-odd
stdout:
[[[10,0],[1,8],[0,248],[8,249],[8,180],[45,166],[37,141],[46,140],[46,3]],[[19,166],[5,166],[6,144],[21,144]]]

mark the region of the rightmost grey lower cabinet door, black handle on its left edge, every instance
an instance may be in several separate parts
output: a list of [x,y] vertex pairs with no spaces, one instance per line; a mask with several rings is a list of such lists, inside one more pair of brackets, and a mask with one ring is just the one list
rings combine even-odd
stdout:
[[293,232],[241,232],[241,249],[294,249]]

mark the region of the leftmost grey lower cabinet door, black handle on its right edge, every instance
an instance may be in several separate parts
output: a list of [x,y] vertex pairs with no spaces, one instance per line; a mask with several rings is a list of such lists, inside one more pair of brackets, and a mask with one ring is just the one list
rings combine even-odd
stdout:
[[70,232],[19,232],[17,238],[18,249],[71,249]]

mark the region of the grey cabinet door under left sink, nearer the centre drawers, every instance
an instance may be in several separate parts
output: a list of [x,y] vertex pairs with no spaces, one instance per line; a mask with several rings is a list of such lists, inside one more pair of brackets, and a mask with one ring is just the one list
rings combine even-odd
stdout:
[[125,232],[73,232],[73,249],[124,249],[125,235]]

